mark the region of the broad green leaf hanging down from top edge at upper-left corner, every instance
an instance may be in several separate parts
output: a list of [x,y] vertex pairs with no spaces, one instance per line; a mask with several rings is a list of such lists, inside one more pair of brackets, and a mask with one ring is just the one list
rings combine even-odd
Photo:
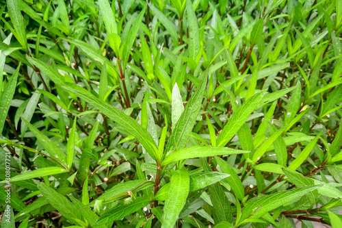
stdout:
[[21,10],[19,8],[19,0],[8,0],[7,6],[10,12],[10,18],[14,26],[14,36],[20,42],[21,46],[27,50],[27,40],[26,31],[23,21],[23,16],[21,15]]

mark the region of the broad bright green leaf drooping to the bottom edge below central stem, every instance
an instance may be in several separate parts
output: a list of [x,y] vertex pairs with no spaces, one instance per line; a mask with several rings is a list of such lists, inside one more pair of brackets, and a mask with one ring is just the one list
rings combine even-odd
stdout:
[[174,227],[189,194],[189,182],[187,171],[176,170],[172,173],[168,198],[163,209],[163,227]]

